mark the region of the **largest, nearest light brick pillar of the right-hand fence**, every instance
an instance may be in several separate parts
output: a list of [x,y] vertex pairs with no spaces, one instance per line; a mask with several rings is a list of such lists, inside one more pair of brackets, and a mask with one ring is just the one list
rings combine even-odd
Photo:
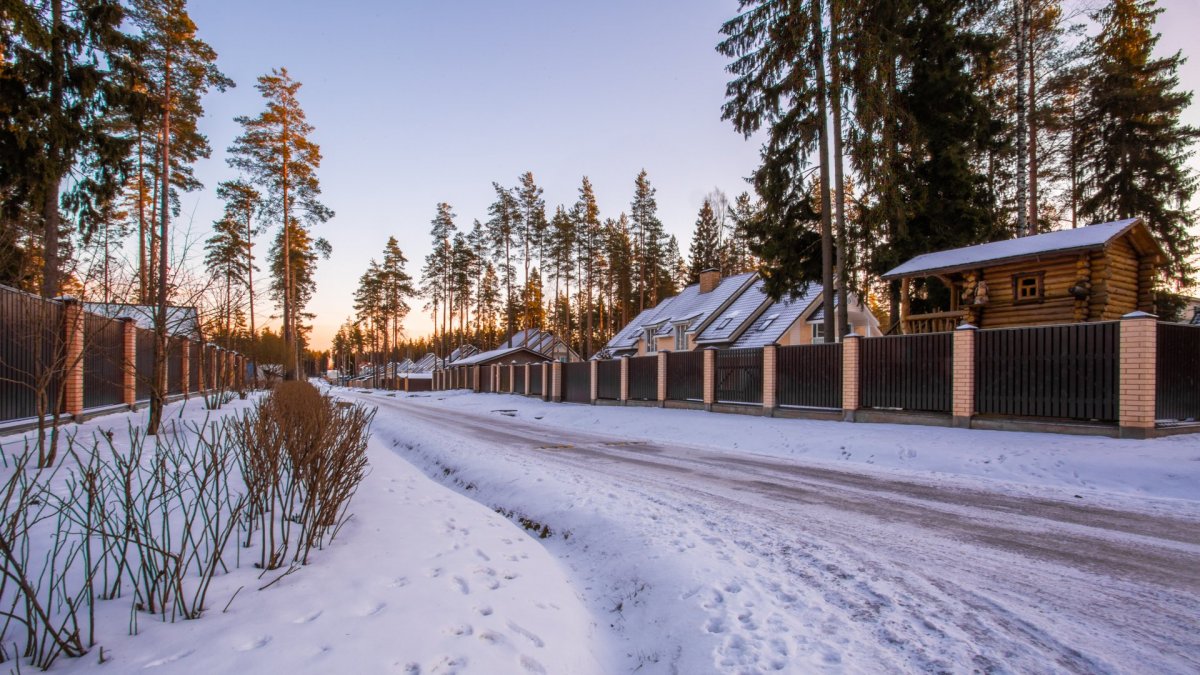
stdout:
[[1117,404],[1122,438],[1146,438],[1154,430],[1158,375],[1158,317],[1132,312],[1121,317],[1121,399]]

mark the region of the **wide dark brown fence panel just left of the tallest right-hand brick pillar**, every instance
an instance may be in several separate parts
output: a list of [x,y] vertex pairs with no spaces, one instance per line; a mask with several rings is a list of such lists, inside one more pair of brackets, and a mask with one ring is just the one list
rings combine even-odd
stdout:
[[1117,419],[1121,325],[997,328],[976,335],[976,412]]

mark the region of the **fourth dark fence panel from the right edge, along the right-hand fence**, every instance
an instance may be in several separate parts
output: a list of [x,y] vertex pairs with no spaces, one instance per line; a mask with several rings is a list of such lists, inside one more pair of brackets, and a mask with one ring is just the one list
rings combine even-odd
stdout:
[[779,347],[775,401],[787,407],[841,408],[841,342]]

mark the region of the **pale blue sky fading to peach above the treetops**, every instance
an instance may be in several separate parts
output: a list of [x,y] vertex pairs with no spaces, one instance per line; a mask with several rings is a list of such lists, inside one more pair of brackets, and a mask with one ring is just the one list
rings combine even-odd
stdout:
[[[1195,52],[1200,0],[1168,0],[1162,50]],[[314,346],[353,313],[359,275],[395,235],[416,276],[437,202],[460,227],[486,219],[491,183],[534,172],[547,208],[570,204],[580,179],[595,186],[601,217],[629,208],[634,177],[649,172],[659,215],[686,252],[707,192],[736,195],[758,145],[720,119],[727,74],[714,47],[734,0],[371,1],[205,0],[192,17],[238,82],[205,100],[212,159],[197,167],[206,190],[185,196],[184,217],[206,235],[220,215],[220,180],[233,118],[262,109],[254,78],[287,66],[317,129],[325,203],[337,216],[316,234],[322,261]],[[1200,89],[1200,59],[1183,73]],[[1189,110],[1200,125],[1200,106]],[[265,252],[265,246],[260,246]],[[407,322],[428,330],[420,300]]]

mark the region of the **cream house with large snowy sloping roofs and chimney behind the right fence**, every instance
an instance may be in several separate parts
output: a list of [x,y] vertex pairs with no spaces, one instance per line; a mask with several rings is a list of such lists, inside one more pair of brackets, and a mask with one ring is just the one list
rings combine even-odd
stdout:
[[[706,270],[700,283],[637,315],[599,358],[826,341],[820,285],[810,285],[796,299],[780,300],[772,300],[763,285],[756,273],[720,279],[716,270]],[[859,335],[881,335],[875,316],[857,297],[851,294],[850,299],[851,328]]]

